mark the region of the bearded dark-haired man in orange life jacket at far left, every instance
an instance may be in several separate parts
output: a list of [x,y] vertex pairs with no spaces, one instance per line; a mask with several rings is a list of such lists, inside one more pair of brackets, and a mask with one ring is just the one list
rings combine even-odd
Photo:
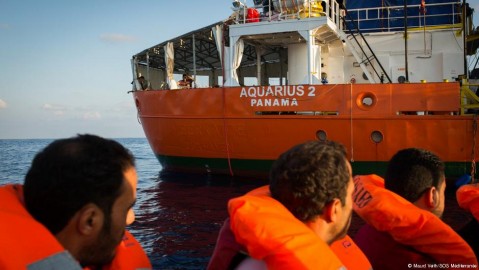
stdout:
[[23,186],[0,187],[0,269],[151,269],[125,231],[134,165],[121,144],[94,135],[40,151]]

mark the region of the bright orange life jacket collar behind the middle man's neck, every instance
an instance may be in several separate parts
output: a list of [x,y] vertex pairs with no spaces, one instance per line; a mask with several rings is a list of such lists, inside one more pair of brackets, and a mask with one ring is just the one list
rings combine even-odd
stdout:
[[268,186],[231,199],[228,211],[238,243],[268,269],[344,269],[322,239],[271,198]]

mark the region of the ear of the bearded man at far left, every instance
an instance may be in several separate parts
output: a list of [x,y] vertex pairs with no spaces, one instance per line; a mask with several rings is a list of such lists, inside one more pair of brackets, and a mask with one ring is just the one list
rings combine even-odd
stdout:
[[104,215],[101,209],[94,203],[83,206],[78,211],[77,229],[83,235],[91,235],[103,227]]

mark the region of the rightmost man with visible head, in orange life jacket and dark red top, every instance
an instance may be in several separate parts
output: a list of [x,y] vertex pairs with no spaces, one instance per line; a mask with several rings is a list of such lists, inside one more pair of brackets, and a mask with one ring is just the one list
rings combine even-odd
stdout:
[[[444,212],[444,163],[417,148],[400,150],[383,180],[356,176],[354,211],[365,224],[354,240],[373,269],[408,269],[440,265],[477,268],[469,245],[440,217]],[[438,266],[439,267],[439,266]]]

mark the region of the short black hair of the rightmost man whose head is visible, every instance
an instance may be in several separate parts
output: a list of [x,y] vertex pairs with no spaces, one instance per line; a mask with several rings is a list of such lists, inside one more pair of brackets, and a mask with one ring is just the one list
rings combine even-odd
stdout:
[[444,163],[434,153],[407,148],[389,161],[384,185],[386,189],[415,202],[431,187],[439,188],[444,176]]

